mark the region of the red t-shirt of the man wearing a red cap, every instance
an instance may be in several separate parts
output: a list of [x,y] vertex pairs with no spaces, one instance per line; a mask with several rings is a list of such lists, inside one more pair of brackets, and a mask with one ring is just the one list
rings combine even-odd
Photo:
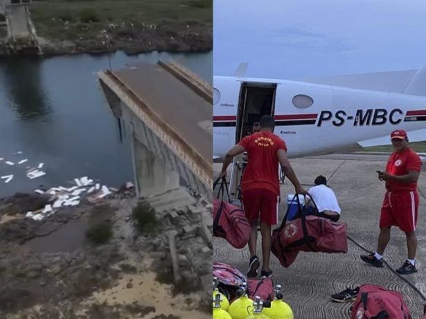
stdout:
[[[411,148],[407,147],[402,152],[393,152],[386,165],[386,172],[392,175],[406,175],[409,170],[420,172],[422,161]],[[401,183],[399,181],[387,181],[386,189],[389,192],[404,192],[417,189],[417,182]]]

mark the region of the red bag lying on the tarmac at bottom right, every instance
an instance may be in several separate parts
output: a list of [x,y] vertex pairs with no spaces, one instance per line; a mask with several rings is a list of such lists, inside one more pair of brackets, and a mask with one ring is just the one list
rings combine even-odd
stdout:
[[363,284],[353,304],[351,319],[412,319],[398,291],[375,284]]

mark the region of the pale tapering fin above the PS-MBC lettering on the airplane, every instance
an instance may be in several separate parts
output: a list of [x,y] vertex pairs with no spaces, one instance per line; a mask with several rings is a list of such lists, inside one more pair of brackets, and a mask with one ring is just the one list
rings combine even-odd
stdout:
[[314,84],[346,86],[353,89],[403,93],[417,71],[417,69],[413,69],[351,75],[332,75],[322,78],[304,78],[292,80]]

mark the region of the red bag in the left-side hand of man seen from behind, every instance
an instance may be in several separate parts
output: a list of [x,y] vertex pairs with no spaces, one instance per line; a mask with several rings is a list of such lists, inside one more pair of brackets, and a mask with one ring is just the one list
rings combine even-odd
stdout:
[[[213,190],[219,181],[215,181]],[[223,178],[218,198],[213,199],[213,236],[227,239],[235,248],[243,248],[249,242],[251,225],[241,208],[223,200],[225,188],[229,200],[227,180]]]

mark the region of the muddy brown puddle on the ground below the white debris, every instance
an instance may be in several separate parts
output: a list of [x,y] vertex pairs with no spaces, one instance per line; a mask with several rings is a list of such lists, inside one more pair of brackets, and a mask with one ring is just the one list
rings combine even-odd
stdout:
[[62,253],[82,248],[87,226],[84,221],[69,221],[44,237],[35,237],[25,246],[35,253]]

